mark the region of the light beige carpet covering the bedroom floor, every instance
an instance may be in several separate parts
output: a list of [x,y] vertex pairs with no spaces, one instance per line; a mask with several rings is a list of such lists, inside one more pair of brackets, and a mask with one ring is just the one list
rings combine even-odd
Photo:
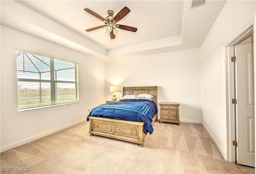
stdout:
[[[84,122],[0,154],[1,173],[242,174],[200,124],[154,123],[144,147],[89,134]],[[5,171],[3,171],[3,168]],[[27,172],[7,172],[24,168]]]

